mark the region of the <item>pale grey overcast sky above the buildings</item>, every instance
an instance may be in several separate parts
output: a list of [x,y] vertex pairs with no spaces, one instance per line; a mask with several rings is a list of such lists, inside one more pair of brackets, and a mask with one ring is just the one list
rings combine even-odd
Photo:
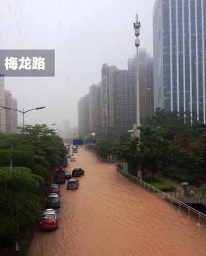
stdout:
[[[152,52],[155,0],[1,0],[0,49],[55,49],[55,77],[6,77],[5,89],[26,124],[78,125],[78,101],[101,81],[104,63],[127,69],[134,46],[135,14],[140,49]],[[0,70],[1,73],[1,70]],[[19,124],[23,119],[19,115]]]

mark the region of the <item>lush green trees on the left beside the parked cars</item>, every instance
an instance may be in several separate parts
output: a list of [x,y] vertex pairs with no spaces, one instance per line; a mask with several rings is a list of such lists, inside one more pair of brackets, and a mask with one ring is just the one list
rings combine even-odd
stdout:
[[0,247],[4,255],[9,255],[7,248],[15,248],[41,213],[46,181],[65,154],[62,139],[45,124],[27,125],[20,133],[0,133]]

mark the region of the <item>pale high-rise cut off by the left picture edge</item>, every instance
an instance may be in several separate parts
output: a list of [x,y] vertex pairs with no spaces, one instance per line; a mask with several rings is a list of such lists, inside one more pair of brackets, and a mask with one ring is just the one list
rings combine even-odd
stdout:
[[0,74],[0,132],[6,133],[4,74]]

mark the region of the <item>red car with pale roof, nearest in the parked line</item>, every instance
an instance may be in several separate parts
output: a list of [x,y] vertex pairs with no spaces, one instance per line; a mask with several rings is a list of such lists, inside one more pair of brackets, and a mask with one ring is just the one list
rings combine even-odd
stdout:
[[57,210],[52,208],[44,210],[40,217],[39,229],[52,230],[58,228],[58,213]]

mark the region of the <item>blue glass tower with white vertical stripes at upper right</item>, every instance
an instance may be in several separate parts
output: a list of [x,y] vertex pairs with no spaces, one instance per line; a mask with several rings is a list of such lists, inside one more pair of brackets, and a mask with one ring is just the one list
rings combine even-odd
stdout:
[[154,104],[205,123],[206,1],[156,0]]

